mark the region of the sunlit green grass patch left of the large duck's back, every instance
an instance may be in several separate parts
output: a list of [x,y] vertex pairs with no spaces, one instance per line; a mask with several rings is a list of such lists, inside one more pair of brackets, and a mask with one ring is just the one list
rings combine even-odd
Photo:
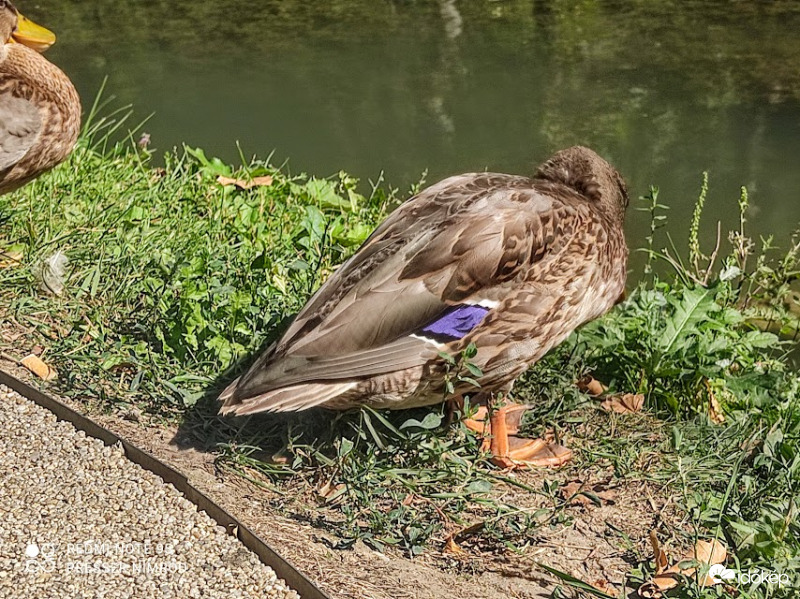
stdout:
[[[151,168],[127,144],[96,147],[85,137],[65,165],[0,203],[6,244],[28,266],[0,273],[3,310],[69,359],[66,387],[154,409],[192,405],[234,357],[277,334],[393,197],[364,197],[344,173],[287,176],[258,162],[239,175],[274,182],[245,192],[218,184],[232,171],[201,150]],[[35,265],[58,250],[68,291],[29,293]]]

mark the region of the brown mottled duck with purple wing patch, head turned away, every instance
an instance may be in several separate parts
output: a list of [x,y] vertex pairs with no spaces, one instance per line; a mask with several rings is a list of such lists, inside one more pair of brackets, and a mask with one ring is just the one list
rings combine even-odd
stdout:
[[[221,413],[394,410],[469,397],[479,408],[468,426],[491,440],[496,464],[566,463],[571,450],[554,440],[516,436],[530,406],[509,393],[623,297],[628,203],[622,176],[583,146],[555,153],[533,176],[466,173],[424,189],[221,392]],[[465,355],[475,368],[454,376],[454,357]]]

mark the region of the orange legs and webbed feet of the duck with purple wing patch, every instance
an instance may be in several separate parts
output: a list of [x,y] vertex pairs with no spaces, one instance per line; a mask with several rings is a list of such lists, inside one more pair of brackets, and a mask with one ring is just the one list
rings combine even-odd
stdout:
[[572,451],[566,447],[545,439],[517,436],[522,415],[528,409],[529,406],[505,403],[490,415],[489,409],[481,406],[475,417],[464,420],[464,424],[483,437],[483,449],[491,452],[492,463],[501,468],[558,467],[567,463]]

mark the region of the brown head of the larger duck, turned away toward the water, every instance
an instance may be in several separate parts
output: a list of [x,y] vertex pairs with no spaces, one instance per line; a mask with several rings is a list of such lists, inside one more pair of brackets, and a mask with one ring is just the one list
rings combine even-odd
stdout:
[[577,191],[614,222],[625,220],[628,189],[617,170],[596,152],[573,146],[539,166],[535,179],[560,183]]

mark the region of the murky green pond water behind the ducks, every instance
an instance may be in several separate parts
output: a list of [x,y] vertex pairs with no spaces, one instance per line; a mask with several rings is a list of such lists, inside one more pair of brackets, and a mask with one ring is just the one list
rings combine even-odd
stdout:
[[[381,172],[401,189],[471,170],[529,172],[581,143],[631,196],[661,189],[680,244],[704,170],[704,232],[784,244],[800,221],[800,3],[638,0],[39,0],[20,7],[88,105],[104,77],[183,142],[293,172]],[[631,212],[640,246],[649,221]],[[707,244],[711,244],[711,239]],[[710,247],[706,248],[710,250]]]

